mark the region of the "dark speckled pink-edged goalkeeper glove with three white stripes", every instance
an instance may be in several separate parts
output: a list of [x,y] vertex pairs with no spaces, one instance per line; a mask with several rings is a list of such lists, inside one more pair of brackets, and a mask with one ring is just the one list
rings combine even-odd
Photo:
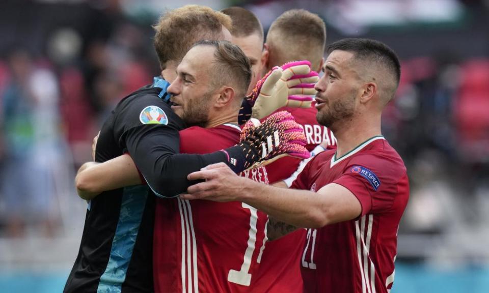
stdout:
[[263,166],[287,155],[309,158],[304,130],[287,111],[274,113],[261,124],[252,118],[243,127],[240,142],[246,154],[245,169]]

